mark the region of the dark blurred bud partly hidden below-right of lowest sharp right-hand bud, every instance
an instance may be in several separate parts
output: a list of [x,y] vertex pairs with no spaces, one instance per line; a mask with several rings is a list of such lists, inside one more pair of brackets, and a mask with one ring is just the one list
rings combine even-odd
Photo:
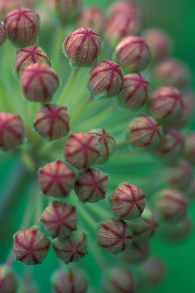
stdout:
[[145,261],[149,257],[150,251],[150,242],[133,242],[120,254],[120,258],[128,264],[137,264]]

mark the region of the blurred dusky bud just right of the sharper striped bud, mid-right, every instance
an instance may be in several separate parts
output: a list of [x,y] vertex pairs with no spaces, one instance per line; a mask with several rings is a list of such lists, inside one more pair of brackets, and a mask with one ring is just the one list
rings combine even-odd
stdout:
[[157,149],[162,159],[174,160],[183,153],[183,150],[184,138],[182,133],[176,129],[166,130]]

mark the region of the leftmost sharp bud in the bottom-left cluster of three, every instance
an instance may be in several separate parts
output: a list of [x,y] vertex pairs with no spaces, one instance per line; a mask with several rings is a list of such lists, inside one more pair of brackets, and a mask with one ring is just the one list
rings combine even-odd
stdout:
[[38,227],[17,232],[14,235],[16,260],[26,265],[41,264],[47,256],[50,241]]

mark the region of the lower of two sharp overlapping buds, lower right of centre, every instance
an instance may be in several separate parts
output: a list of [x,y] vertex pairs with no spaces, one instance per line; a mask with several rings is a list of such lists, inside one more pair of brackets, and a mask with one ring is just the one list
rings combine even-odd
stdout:
[[133,241],[131,228],[122,220],[106,220],[98,225],[98,246],[113,254],[124,251]]

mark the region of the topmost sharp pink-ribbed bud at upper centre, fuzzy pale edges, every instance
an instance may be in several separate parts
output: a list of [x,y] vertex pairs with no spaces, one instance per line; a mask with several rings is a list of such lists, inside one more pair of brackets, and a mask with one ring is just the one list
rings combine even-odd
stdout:
[[101,53],[102,39],[92,29],[77,29],[64,41],[64,52],[73,67],[93,66]]

